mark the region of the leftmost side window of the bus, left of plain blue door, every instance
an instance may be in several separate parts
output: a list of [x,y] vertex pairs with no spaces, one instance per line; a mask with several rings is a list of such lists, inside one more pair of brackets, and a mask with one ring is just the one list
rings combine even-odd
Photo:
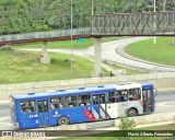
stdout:
[[35,102],[34,101],[20,102],[20,108],[22,113],[35,112]]

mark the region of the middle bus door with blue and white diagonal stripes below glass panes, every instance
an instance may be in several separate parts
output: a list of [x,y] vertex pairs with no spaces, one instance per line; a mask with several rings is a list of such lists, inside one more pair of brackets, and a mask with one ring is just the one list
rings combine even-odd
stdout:
[[105,94],[93,95],[92,114],[95,119],[107,119]]

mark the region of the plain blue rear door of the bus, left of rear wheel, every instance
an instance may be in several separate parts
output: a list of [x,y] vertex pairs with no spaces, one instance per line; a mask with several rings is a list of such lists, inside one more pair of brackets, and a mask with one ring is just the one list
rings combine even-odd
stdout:
[[49,126],[48,101],[37,101],[39,127]]

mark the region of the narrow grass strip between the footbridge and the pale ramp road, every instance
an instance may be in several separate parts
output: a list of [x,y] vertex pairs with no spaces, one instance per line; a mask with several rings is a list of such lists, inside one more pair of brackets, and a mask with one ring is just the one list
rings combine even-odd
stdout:
[[[117,39],[121,39],[124,37],[105,37],[102,38],[102,42],[110,42],[110,40],[117,40]],[[56,40],[56,42],[50,42],[48,44],[49,48],[70,48],[70,40]],[[93,46],[95,43],[94,38],[86,38],[86,40],[84,43],[77,43],[77,40],[74,39],[72,42],[72,48],[73,49],[83,49],[83,48],[88,48],[90,46]],[[26,44],[18,44],[18,45],[12,45],[12,47],[14,48],[40,48],[43,46],[43,43],[26,43]]]

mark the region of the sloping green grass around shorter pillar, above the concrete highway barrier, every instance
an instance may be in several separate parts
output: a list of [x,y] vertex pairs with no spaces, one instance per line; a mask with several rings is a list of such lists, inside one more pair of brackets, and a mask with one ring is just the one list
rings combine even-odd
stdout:
[[[0,51],[0,83],[37,82],[63,79],[90,78],[94,65],[92,61],[73,56],[73,73],[70,74],[70,55],[50,52],[50,65],[37,61],[37,52]],[[81,68],[81,69],[80,69]],[[107,71],[103,70],[105,75]]]

